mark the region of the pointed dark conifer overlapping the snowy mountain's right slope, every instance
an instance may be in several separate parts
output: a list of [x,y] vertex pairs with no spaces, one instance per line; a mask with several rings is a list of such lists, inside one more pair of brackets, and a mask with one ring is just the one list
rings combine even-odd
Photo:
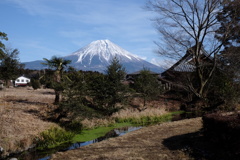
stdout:
[[107,67],[106,75],[92,76],[88,82],[90,96],[94,99],[94,104],[98,109],[111,115],[119,109],[117,104],[124,102],[126,86],[122,84],[125,76],[125,69],[114,58]]

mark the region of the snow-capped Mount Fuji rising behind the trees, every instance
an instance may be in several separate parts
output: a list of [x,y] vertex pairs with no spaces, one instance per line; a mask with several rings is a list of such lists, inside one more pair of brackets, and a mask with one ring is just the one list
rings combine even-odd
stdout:
[[[98,71],[104,73],[112,59],[116,57],[127,73],[136,72],[143,68],[160,73],[163,68],[149,63],[140,57],[131,54],[109,40],[93,41],[89,45],[62,58],[71,60],[70,66],[83,71]],[[26,62],[25,68],[44,69],[43,61]]]

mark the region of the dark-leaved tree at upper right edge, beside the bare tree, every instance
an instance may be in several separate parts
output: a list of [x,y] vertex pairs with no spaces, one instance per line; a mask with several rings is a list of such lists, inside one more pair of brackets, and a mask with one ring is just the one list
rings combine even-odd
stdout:
[[[240,74],[240,1],[225,0],[222,6],[223,9],[217,17],[221,26],[216,36],[224,44],[224,50],[220,54],[221,61],[229,76],[238,76]],[[225,38],[226,33],[228,38]]]

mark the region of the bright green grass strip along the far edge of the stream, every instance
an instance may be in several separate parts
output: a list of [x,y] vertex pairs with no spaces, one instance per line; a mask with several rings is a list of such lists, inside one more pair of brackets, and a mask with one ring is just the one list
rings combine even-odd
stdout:
[[106,133],[115,129],[130,126],[146,126],[149,124],[156,124],[171,121],[172,117],[176,114],[181,114],[183,111],[171,112],[164,114],[162,116],[143,116],[140,118],[127,118],[127,119],[117,119],[114,124],[108,127],[98,127],[95,129],[85,129],[82,130],[80,134],[75,134],[72,132],[65,131],[64,129],[51,128],[41,133],[40,137],[37,138],[38,149],[47,149],[60,146],[64,143],[75,143],[75,142],[85,142],[97,139],[99,137],[105,136]]

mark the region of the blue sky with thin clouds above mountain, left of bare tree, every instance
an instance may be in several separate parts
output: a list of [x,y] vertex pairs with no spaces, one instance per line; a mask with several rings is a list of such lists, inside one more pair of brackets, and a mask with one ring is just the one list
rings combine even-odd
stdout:
[[148,61],[158,33],[143,9],[146,0],[0,0],[0,31],[28,62],[66,56],[92,41],[109,39]]

